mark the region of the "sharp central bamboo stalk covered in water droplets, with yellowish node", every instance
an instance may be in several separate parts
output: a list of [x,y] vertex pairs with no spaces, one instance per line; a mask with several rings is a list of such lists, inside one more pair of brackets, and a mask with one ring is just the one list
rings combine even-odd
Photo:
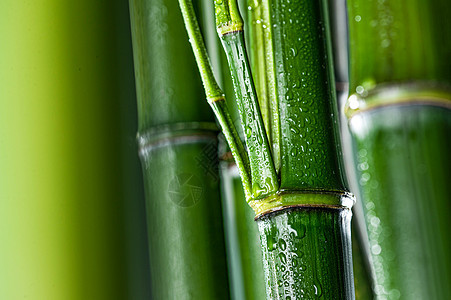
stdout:
[[[253,52],[264,54],[253,61],[274,66],[278,103],[273,107],[278,107],[279,112],[270,116],[277,116],[270,123],[280,126],[282,145],[279,193],[251,201],[251,205],[259,217],[268,298],[350,299],[350,214],[346,201],[342,202],[347,199],[347,189],[336,148],[338,139],[331,130],[335,122],[331,113],[336,109],[332,76],[326,68],[330,62],[324,59],[329,53],[323,39],[328,36],[319,26],[327,13],[321,4],[302,4],[275,1],[269,5],[262,1],[250,5],[251,9],[266,6],[260,9],[269,12],[260,15],[263,19],[256,23],[263,23],[265,30],[270,31],[265,38],[272,37],[271,46],[254,40],[250,43],[254,49],[264,47],[264,51]],[[303,20],[300,6],[305,14]],[[265,16],[271,19],[265,20]],[[305,40],[298,35],[302,26],[306,26]],[[251,36],[259,40],[256,34]],[[227,52],[229,49],[225,48]],[[239,60],[231,57],[229,61],[233,59]],[[232,66],[232,75],[233,72]],[[256,81],[261,82],[259,74]],[[258,94],[271,101],[273,97],[264,93],[262,90]]]

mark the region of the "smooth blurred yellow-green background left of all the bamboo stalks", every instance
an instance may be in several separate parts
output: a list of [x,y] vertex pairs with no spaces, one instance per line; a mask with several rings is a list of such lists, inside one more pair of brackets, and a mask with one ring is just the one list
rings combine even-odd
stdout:
[[146,299],[127,0],[0,1],[0,299]]

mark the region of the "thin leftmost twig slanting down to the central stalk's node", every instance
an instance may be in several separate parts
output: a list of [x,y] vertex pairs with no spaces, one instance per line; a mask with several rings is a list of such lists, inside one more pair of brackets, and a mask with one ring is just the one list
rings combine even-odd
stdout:
[[199,73],[201,74],[208,103],[212,107],[227,139],[227,143],[229,144],[238,169],[240,170],[240,176],[243,182],[246,198],[249,199],[252,194],[249,158],[230,117],[224,93],[219,88],[219,85],[214,77],[192,1],[179,0],[179,5],[182,11],[186,30],[188,32],[191,47],[193,48],[194,56],[196,58],[197,66],[199,68]]

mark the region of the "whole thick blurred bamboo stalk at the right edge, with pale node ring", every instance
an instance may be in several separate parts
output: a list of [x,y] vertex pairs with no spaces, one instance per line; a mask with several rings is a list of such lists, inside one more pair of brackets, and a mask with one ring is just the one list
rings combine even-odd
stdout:
[[348,1],[349,125],[378,299],[449,299],[449,1]]

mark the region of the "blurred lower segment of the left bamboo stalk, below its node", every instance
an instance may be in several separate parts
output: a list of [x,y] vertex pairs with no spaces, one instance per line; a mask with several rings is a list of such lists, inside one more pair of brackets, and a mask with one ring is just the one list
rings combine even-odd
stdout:
[[142,152],[154,299],[229,297],[215,134]]

